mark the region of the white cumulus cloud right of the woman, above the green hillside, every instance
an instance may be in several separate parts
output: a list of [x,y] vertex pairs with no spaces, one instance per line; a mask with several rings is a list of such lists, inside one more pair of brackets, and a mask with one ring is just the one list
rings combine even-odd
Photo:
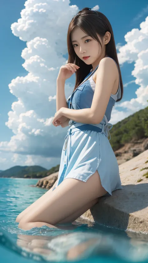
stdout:
[[[110,120],[112,124],[148,106],[148,17],[140,24],[140,30],[133,28],[127,32],[125,41],[124,46],[118,45],[118,59],[120,65],[135,62],[131,72],[135,80],[129,84],[135,82],[138,85],[135,92],[137,97],[115,104]],[[120,111],[118,107],[121,107]]]

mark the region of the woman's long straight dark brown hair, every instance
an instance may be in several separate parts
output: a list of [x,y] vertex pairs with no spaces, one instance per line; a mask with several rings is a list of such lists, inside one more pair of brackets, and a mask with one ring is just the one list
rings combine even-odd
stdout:
[[106,44],[106,55],[116,61],[118,69],[119,69],[121,98],[116,101],[120,101],[123,95],[123,82],[122,82],[121,70],[120,70],[119,61],[117,57],[116,45],[115,45],[115,40],[114,40],[114,35],[113,35],[111,24],[104,14],[102,14],[99,11],[96,11],[98,13],[98,16],[97,16],[96,12],[94,12],[93,10],[89,10],[89,9],[91,8],[88,8],[88,7],[83,8],[72,18],[72,21],[69,24],[68,32],[67,32],[68,63],[73,63],[73,64],[76,64],[77,66],[80,66],[79,70],[76,71],[76,83],[75,83],[74,90],[76,90],[77,86],[80,85],[81,82],[85,79],[85,77],[89,74],[89,72],[92,69],[92,65],[85,64],[85,62],[82,61],[76,55],[74,51],[74,47],[72,45],[72,41],[71,41],[72,30],[75,27],[81,28],[81,30],[83,30],[87,35],[91,36],[93,39],[98,41],[100,45],[101,45],[101,42],[99,38],[97,37],[96,33],[98,33],[102,39],[105,33],[108,31],[111,34],[111,39],[108,42],[108,44]]

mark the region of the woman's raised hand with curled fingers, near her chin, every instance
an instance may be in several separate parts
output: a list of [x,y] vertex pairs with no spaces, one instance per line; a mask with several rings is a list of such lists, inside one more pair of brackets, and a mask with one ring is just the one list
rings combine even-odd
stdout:
[[61,66],[57,79],[67,80],[79,68],[80,68],[79,66],[77,66],[76,64],[72,64],[72,63],[68,63],[64,66]]

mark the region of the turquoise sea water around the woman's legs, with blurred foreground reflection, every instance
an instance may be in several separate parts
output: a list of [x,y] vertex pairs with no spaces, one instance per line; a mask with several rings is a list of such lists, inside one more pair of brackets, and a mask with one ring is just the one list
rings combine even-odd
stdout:
[[47,189],[37,179],[0,178],[0,262],[147,262],[148,235],[101,226],[84,219],[76,225],[24,231],[17,215]]

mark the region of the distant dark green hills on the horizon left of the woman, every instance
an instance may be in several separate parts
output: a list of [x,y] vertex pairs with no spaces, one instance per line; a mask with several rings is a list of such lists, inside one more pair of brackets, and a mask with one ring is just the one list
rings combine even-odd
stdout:
[[60,165],[47,170],[42,166],[14,166],[0,172],[0,178],[43,178],[59,171]]

